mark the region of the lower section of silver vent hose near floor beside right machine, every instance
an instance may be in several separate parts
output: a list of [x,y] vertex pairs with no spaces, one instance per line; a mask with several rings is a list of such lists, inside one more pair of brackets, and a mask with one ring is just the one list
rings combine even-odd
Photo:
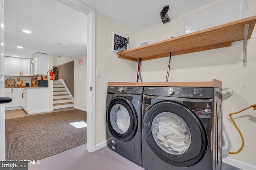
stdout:
[[[221,144],[221,138],[218,138],[218,147],[220,148]],[[230,137],[228,135],[228,132],[222,123],[222,155],[227,155],[232,148]]]

